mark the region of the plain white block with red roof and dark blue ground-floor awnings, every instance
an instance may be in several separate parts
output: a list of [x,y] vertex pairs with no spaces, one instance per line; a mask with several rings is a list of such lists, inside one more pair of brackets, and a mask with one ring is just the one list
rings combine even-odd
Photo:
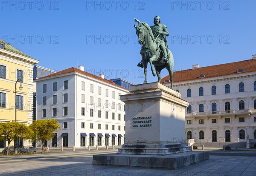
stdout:
[[49,146],[87,147],[121,145],[125,111],[120,95],[129,91],[112,81],[68,68],[35,80],[36,119],[56,119],[61,130]]

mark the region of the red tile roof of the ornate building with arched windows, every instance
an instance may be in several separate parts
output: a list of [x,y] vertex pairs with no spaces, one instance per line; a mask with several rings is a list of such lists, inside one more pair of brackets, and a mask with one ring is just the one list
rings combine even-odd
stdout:
[[[243,72],[237,72],[240,68],[242,68]],[[241,73],[250,73],[254,72],[256,74],[256,60],[244,60],[239,62],[232,62],[220,65],[212,65],[207,67],[183,70],[183,71],[175,71],[173,73],[173,82],[184,82],[184,81],[192,81],[199,79],[207,79],[212,77],[224,77],[227,75],[235,75]],[[205,77],[199,78],[200,75],[204,75]],[[170,79],[170,76],[167,75],[163,77],[161,83],[166,79]]]

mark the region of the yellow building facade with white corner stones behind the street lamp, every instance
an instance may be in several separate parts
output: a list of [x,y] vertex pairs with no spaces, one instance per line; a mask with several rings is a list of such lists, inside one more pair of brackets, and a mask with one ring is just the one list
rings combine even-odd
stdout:
[[[33,66],[38,62],[9,43],[0,40],[1,123],[15,121],[15,102],[17,102],[16,121],[25,124],[32,123],[33,86],[35,84]],[[22,90],[19,88],[20,85]]]

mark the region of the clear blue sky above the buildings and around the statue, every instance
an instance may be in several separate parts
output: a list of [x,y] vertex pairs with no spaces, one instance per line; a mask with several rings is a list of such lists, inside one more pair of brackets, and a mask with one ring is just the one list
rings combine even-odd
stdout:
[[[134,18],[169,31],[174,71],[252,59],[255,0],[0,0],[0,38],[55,70],[83,65],[105,78],[143,83]],[[163,70],[161,76],[165,77]],[[157,81],[148,71],[148,82]]]

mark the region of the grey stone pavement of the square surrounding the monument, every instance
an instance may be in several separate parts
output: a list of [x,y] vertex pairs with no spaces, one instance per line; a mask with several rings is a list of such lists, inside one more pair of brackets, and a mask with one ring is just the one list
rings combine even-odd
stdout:
[[[239,151],[237,151],[239,152]],[[79,150],[0,156],[0,176],[255,176],[255,156],[210,156],[177,170],[92,165],[92,156],[111,150]]]

